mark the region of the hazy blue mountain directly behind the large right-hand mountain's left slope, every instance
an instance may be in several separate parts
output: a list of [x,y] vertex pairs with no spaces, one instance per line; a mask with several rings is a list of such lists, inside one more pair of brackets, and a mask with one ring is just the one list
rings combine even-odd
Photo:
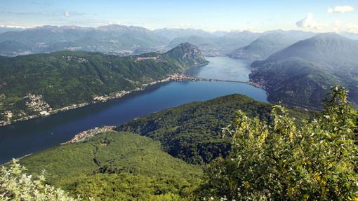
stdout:
[[264,60],[268,56],[276,53],[278,50],[291,46],[303,39],[314,36],[312,32],[300,31],[271,31],[265,32],[258,39],[250,43],[248,46],[233,50],[228,55],[244,60]]

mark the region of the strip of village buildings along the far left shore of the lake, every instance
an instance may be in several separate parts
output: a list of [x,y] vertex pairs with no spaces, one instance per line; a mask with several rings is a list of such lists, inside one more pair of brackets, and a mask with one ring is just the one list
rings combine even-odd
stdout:
[[85,102],[85,103],[81,103],[81,104],[72,104],[70,106],[65,106],[65,107],[60,108],[60,109],[52,109],[51,106],[48,105],[44,101],[44,98],[42,97],[42,95],[28,94],[27,96],[25,96],[23,98],[25,99],[26,106],[30,110],[34,111],[34,114],[31,115],[31,116],[26,116],[25,113],[22,113],[22,114],[18,115],[18,116],[22,116],[22,118],[11,120],[11,118],[13,118],[13,116],[14,116],[13,112],[12,111],[4,111],[0,115],[4,116],[6,119],[5,120],[0,120],[0,126],[9,125],[11,123],[20,122],[20,121],[23,121],[23,120],[29,120],[31,118],[37,118],[37,117],[40,117],[40,116],[48,116],[50,114],[57,113],[59,111],[67,111],[67,110],[70,110],[70,109],[76,109],[76,108],[86,106],[86,105],[91,104],[91,103],[106,102],[109,99],[120,98],[120,97],[123,97],[124,95],[128,95],[131,92],[144,90],[147,86],[155,85],[157,83],[165,83],[165,82],[169,82],[169,81],[201,81],[201,80],[203,80],[203,79],[194,78],[192,76],[186,76],[184,74],[172,74],[172,75],[170,75],[167,78],[164,78],[162,80],[152,81],[151,83],[142,84],[142,86],[137,87],[137,88],[135,88],[133,90],[129,90],[129,91],[122,90],[120,92],[113,92],[113,93],[111,93],[110,95],[107,95],[107,96],[96,96],[96,97],[93,97],[93,102]]

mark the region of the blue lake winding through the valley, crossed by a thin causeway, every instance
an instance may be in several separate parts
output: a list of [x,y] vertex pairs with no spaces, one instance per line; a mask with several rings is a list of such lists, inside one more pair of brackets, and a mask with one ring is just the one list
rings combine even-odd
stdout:
[[[188,72],[201,78],[246,81],[245,62],[228,57],[208,57],[211,64]],[[223,69],[223,71],[220,71]],[[234,76],[234,75],[237,76]],[[246,80],[245,80],[246,79]],[[120,125],[133,118],[223,95],[243,94],[267,102],[265,90],[245,83],[181,81],[153,85],[141,92],[105,103],[55,113],[21,123],[0,127],[0,164],[11,158],[41,151],[68,141],[74,134],[100,125]]]

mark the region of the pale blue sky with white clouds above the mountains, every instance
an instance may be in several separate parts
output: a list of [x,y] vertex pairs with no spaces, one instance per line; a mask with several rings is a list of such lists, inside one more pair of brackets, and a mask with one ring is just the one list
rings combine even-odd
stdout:
[[1,27],[133,25],[358,33],[358,0],[0,0]]

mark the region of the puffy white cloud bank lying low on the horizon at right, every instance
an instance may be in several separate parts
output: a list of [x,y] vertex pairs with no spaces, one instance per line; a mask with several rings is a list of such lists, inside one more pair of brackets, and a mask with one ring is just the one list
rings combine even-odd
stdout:
[[312,13],[307,13],[307,16],[302,20],[296,22],[297,27],[314,32],[351,32],[358,33],[358,25],[354,23],[343,24],[339,20],[331,23],[319,23],[314,20]]

